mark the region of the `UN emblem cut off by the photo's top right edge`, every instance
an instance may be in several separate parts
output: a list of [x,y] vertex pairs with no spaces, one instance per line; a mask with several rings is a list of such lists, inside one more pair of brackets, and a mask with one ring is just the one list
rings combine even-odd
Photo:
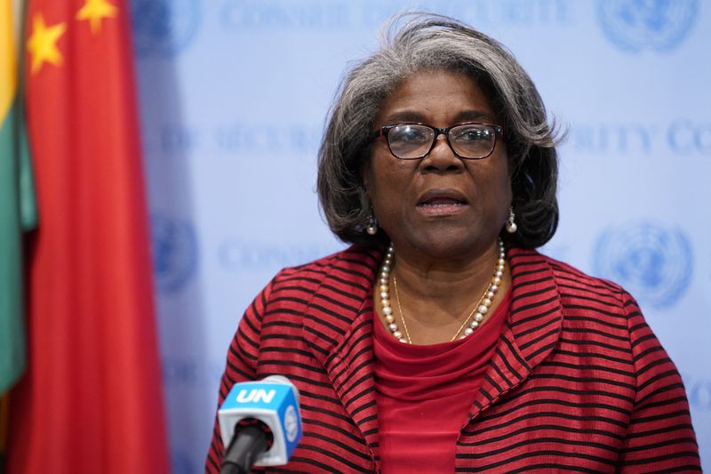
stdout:
[[691,31],[699,0],[598,0],[597,19],[620,49],[670,51]]

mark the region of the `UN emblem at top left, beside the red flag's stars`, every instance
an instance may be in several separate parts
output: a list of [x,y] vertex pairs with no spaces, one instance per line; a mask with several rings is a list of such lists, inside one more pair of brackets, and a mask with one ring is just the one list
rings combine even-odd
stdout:
[[139,57],[172,57],[196,35],[199,0],[132,0],[133,45]]

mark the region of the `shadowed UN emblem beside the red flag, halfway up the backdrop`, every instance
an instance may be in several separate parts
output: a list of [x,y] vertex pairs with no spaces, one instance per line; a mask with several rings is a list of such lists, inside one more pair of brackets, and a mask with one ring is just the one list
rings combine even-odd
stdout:
[[197,268],[197,239],[188,221],[151,216],[153,273],[161,293],[174,293],[182,288]]

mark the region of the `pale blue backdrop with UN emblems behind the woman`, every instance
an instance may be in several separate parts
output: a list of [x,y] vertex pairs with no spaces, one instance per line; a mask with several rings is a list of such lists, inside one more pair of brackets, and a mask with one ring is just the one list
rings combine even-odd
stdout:
[[342,245],[316,148],[340,76],[395,12],[506,44],[569,128],[544,252],[625,286],[675,360],[711,469],[711,4],[699,0],[133,0],[173,470],[202,470],[239,317]]

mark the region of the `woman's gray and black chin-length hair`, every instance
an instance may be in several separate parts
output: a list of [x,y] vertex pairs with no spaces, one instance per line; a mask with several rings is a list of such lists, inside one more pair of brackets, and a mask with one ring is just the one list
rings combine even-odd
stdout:
[[332,232],[355,244],[387,240],[382,230],[376,237],[363,231],[371,205],[361,171],[370,159],[375,117],[407,77],[447,70],[474,79],[504,127],[518,231],[501,237],[526,248],[545,244],[558,223],[557,140],[531,77],[502,44],[459,20],[404,13],[383,31],[379,51],[342,81],[319,149],[317,190]]

